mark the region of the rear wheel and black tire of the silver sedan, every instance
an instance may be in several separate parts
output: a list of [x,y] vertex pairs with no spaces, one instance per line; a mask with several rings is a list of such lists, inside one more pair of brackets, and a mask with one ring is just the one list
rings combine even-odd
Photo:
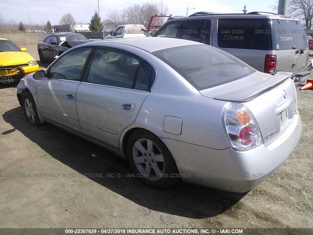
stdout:
[[149,131],[132,133],[127,142],[127,157],[135,176],[152,188],[169,188],[180,180],[171,152]]

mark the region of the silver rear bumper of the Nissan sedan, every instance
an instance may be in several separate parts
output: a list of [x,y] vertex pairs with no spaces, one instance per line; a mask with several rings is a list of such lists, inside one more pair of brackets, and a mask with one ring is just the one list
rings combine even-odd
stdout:
[[266,180],[291,154],[302,133],[295,115],[280,138],[248,151],[211,149],[162,139],[171,151],[183,181],[226,191],[245,192]]

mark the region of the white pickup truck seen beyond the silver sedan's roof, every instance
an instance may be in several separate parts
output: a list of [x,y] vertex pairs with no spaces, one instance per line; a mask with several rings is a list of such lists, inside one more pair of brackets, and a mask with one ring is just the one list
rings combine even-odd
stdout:
[[146,28],[142,24],[119,25],[114,32],[111,32],[111,35],[106,36],[104,39],[146,37],[145,32],[141,29]]

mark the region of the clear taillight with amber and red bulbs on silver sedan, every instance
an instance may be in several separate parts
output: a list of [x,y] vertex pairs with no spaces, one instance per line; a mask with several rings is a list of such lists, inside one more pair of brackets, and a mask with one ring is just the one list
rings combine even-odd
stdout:
[[232,148],[245,151],[263,143],[258,123],[243,104],[227,103],[223,110],[223,123]]

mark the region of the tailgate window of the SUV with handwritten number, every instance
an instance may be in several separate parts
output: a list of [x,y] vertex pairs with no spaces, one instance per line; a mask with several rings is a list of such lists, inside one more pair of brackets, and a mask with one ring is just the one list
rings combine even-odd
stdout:
[[307,37],[299,21],[271,20],[273,50],[291,50],[308,47]]

